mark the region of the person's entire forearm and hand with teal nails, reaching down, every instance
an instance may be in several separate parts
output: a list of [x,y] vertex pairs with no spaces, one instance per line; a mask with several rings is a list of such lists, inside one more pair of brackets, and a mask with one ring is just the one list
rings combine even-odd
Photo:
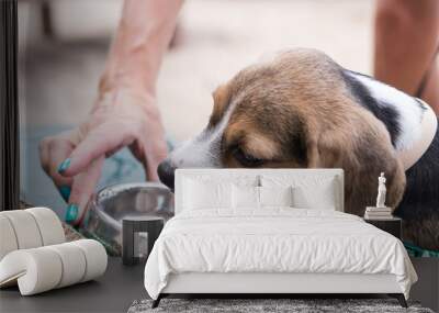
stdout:
[[41,142],[41,163],[68,201],[66,221],[77,224],[101,176],[105,156],[128,146],[148,179],[166,157],[155,103],[162,56],[175,31],[180,0],[125,0],[120,25],[87,120]]

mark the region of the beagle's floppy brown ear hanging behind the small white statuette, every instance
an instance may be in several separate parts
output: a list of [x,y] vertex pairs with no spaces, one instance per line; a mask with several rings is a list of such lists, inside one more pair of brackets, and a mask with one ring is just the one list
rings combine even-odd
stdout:
[[395,209],[404,193],[405,172],[387,130],[362,108],[345,108],[342,115],[333,127],[323,127],[323,123],[308,126],[308,167],[342,168],[345,210],[358,215],[367,205],[375,205],[378,177],[383,171],[387,178],[386,205]]

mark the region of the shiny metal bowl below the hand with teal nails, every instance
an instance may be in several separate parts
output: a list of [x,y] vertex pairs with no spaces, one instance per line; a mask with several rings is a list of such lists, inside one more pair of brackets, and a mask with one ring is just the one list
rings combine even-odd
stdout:
[[114,185],[100,190],[91,201],[85,231],[120,255],[123,219],[161,216],[166,222],[173,212],[173,193],[161,183]]

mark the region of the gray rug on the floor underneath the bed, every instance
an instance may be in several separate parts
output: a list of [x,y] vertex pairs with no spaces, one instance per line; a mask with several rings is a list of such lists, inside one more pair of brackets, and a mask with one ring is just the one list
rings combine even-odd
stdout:
[[160,305],[150,309],[151,300],[134,301],[128,313],[146,312],[416,312],[434,313],[419,303],[408,302],[404,309],[394,299],[162,299]]

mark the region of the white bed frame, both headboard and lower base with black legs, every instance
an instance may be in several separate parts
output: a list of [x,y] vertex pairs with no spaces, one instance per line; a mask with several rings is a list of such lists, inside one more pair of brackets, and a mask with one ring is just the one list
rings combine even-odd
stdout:
[[[263,174],[297,175],[301,177],[334,177],[337,180],[335,193],[336,210],[344,211],[342,169],[178,169],[176,172],[176,213],[181,210],[183,177],[209,175],[218,179],[234,176],[258,176]],[[387,294],[396,298],[407,308],[405,297],[394,275],[361,273],[273,273],[273,272],[187,272],[171,275],[167,287],[153,302],[157,308],[162,298],[169,295],[222,295],[235,298],[291,298],[294,295],[370,295]]]

